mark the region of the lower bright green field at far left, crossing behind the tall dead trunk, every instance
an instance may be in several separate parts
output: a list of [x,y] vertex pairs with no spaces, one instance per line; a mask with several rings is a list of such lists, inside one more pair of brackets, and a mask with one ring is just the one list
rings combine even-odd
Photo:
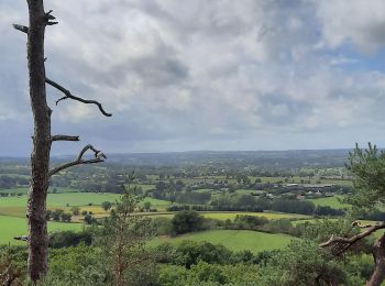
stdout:
[[[81,230],[81,223],[48,222],[48,232]],[[26,219],[0,216],[0,244],[25,245],[14,237],[26,234]]]

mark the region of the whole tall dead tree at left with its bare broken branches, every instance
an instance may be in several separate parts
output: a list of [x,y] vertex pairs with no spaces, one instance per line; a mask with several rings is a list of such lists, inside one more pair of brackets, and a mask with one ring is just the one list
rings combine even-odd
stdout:
[[[30,79],[30,100],[34,121],[33,150],[31,154],[31,187],[28,200],[28,243],[29,243],[29,275],[31,280],[36,283],[47,273],[47,222],[46,197],[50,177],[65,168],[103,162],[105,156],[100,151],[91,145],[85,146],[78,157],[69,163],[50,169],[51,145],[55,141],[79,141],[78,136],[52,135],[51,114],[52,110],[46,100],[46,84],[58,89],[64,97],[56,101],[56,105],[65,99],[73,99],[82,103],[96,105],[101,113],[107,113],[102,106],[95,100],[85,100],[73,96],[67,89],[48,79],[45,76],[44,56],[44,33],[45,28],[57,24],[55,16],[44,11],[43,0],[26,0],[29,6],[29,26],[14,24],[13,28],[28,35],[28,67]],[[87,151],[95,154],[95,158],[86,160],[84,155]]]

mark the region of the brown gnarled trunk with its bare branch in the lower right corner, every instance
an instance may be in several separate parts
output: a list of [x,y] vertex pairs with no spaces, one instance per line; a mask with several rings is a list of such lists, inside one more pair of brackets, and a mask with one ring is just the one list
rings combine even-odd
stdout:
[[[334,256],[340,256],[356,242],[371,235],[377,230],[385,229],[385,222],[373,226],[361,226],[360,222],[356,221],[353,222],[353,227],[359,227],[366,230],[352,238],[340,238],[331,235],[331,238],[327,242],[321,243],[319,248],[330,248],[330,251]],[[374,258],[374,271],[372,273],[371,279],[366,283],[366,285],[380,286],[385,279],[385,234],[381,235],[381,238],[376,240],[372,248],[372,253]]]

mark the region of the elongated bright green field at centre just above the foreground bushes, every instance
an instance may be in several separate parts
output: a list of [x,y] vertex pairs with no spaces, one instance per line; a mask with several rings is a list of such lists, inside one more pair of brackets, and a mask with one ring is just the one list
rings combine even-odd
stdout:
[[223,244],[232,251],[250,250],[257,253],[266,250],[285,248],[293,237],[286,234],[271,234],[249,230],[209,230],[188,233],[176,238],[160,237],[150,242],[151,246],[156,246],[164,242],[180,243],[184,240],[208,241],[213,244]]

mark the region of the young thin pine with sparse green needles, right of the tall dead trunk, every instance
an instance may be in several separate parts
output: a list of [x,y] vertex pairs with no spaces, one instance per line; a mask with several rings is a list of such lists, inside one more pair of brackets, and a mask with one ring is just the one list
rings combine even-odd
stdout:
[[145,249],[154,235],[151,219],[135,216],[139,198],[127,190],[111,216],[103,221],[99,245],[102,262],[117,285],[147,285],[154,279],[155,265]]

